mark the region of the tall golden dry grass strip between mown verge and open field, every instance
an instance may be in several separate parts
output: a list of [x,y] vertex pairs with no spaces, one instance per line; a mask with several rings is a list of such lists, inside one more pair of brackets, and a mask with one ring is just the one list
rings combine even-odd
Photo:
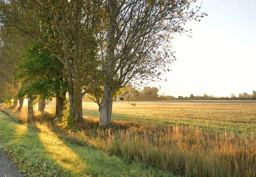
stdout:
[[[26,111],[17,113],[8,108],[4,111],[16,120],[26,121]],[[37,121],[51,119],[51,114],[35,115]],[[79,144],[92,145],[109,154],[172,171],[175,175],[256,177],[253,135],[248,138],[227,131],[211,134],[194,126],[173,125],[165,129],[125,121],[114,121],[112,128],[98,128],[95,119],[84,121],[76,125],[75,132],[62,131]]]

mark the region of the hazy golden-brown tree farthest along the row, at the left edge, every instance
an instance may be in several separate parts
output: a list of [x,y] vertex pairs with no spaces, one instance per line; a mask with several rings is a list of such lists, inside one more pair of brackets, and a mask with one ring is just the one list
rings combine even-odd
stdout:
[[17,100],[20,100],[20,107],[23,106],[23,98],[15,98],[20,86],[20,80],[15,79],[17,73],[16,65],[21,61],[21,55],[24,53],[24,46],[28,39],[13,28],[0,28],[0,97],[3,101],[6,99],[14,100],[14,107],[17,106]]

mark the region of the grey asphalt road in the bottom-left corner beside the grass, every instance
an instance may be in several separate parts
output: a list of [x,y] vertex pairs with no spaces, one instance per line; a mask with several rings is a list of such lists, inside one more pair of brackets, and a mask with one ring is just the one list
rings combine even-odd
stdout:
[[15,164],[0,151],[0,177],[23,177]]

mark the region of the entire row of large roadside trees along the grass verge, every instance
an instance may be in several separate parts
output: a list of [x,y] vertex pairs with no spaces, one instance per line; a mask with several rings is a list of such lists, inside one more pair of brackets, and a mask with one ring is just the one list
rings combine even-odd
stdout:
[[[124,86],[159,80],[176,60],[172,35],[200,21],[195,0],[0,0],[0,97],[15,104],[56,97],[61,117],[82,121],[82,98],[99,106],[99,125],[111,124],[112,103]],[[29,111],[29,112],[30,112]]]

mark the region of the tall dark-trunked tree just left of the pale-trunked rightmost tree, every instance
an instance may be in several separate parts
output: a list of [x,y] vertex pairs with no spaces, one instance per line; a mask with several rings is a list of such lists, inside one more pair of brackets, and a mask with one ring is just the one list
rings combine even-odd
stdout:
[[70,109],[79,121],[83,119],[82,97],[87,83],[92,83],[90,74],[95,73],[91,69],[99,64],[94,59],[98,49],[94,26],[88,20],[88,14],[96,21],[100,17],[94,2],[98,1],[2,1],[0,9],[0,23],[40,41],[64,65]]

